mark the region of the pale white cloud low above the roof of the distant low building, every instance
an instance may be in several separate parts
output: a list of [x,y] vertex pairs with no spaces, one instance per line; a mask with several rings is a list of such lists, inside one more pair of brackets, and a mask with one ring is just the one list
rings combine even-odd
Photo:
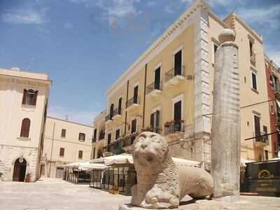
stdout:
[[93,119],[98,114],[99,112],[74,111],[61,106],[50,106],[48,108],[48,116],[50,117],[60,118],[63,120],[68,119],[69,121],[73,121],[75,123],[82,123],[90,126],[92,126]]

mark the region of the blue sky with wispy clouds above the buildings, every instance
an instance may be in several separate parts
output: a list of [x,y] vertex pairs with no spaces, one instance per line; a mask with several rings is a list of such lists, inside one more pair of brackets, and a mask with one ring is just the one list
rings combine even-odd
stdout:
[[[92,125],[106,90],[192,0],[0,0],[0,68],[48,73],[48,114]],[[279,0],[211,0],[264,36],[280,65]]]

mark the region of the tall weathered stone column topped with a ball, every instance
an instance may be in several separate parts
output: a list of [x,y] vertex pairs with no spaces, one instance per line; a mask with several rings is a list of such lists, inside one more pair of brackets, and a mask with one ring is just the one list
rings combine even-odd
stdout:
[[211,141],[214,197],[234,202],[239,198],[240,106],[238,46],[235,31],[223,29],[215,54]]

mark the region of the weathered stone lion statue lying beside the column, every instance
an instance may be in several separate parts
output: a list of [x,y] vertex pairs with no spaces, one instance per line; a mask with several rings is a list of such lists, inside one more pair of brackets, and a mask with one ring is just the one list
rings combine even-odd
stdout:
[[167,140],[160,134],[142,132],[134,141],[137,184],[132,186],[132,205],[146,209],[174,209],[190,195],[202,199],[211,195],[212,176],[198,167],[177,166]]

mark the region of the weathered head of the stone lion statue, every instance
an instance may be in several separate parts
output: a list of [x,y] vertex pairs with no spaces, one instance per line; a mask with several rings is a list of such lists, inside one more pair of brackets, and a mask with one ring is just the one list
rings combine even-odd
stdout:
[[162,168],[168,151],[167,141],[160,134],[142,132],[134,141],[134,165],[137,168]]

